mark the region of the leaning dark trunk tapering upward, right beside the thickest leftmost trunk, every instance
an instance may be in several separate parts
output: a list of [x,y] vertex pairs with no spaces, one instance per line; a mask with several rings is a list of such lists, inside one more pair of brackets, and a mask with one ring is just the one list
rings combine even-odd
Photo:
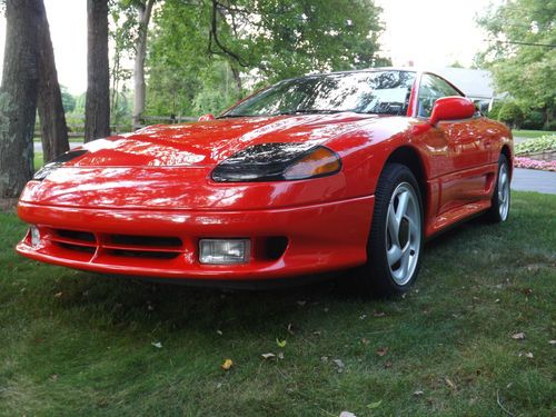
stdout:
[[68,127],[62,106],[62,95],[56,71],[54,51],[50,39],[44,4],[41,2],[41,26],[39,28],[39,119],[41,127],[42,159],[48,162],[69,150]]

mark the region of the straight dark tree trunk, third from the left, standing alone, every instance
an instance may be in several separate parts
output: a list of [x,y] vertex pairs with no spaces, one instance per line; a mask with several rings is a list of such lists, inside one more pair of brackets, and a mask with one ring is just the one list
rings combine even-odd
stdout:
[[110,135],[108,0],[87,0],[87,26],[86,142]]

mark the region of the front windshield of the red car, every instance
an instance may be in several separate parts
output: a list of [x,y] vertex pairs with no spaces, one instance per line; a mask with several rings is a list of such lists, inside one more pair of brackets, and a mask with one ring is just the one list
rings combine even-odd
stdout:
[[308,76],[267,88],[221,117],[300,113],[406,115],[415,72],[368,71]]

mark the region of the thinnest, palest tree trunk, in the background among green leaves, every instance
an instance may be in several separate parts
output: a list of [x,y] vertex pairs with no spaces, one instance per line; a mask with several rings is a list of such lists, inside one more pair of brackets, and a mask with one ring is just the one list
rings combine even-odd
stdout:
[[145,4],[137,6],[139,13],[139,34],[136,42],[136,60],[133,68],[135,98],[133,98],[133,129],[139,128],[145,111],[145,58],[147,56],[147,34],[149,31],[150,14],[155,0],[147,0]]

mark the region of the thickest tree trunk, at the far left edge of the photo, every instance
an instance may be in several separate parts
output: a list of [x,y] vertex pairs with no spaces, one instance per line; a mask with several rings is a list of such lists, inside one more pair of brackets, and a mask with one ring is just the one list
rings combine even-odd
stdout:
[[0,198],[17,198],[33,172],[41,0],[7,0],[0,87]]

